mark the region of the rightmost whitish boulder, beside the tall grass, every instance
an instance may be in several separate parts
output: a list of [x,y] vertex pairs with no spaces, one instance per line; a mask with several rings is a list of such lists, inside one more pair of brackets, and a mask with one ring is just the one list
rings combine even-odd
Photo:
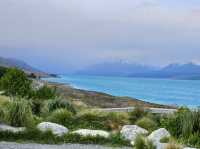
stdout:
[[148,139],[153,141],[154,143],[160,143],[160,140],[164,137],[170,137],[170,133],[165,128],[160,128],[158,130],[153,131]]

